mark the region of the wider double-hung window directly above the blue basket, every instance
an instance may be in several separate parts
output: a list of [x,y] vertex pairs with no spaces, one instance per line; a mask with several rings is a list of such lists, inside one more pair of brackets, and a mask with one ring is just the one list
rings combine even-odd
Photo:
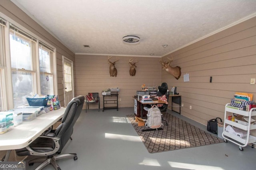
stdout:
[[27,104],[26,96],[32,96],[35,89],[36,42],[16,27],[10,27],[10,56],[12,67],[12,89],[14,107]]

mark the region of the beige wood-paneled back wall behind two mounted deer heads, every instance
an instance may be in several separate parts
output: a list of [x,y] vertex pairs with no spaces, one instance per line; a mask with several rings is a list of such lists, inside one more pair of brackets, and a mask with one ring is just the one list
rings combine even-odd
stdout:
[[[142,84],[146,86],[159,86],[161,84],[160,58],[137,57],[136,75],[130,76],[130,57],[119,56],[116,62],[118,70],[116,77],[110,77],[108,56],[76,55],[76,94],[88,95],[89,92],[100,94],[100,107],[103,107],[102,90],[108,88],[120,88],[118,98],[119,107],[133,107],[132,97],[137,90],[141,90]],[[136,57],[133,57],[136,59]],[[113,56],[110,61],[115,61]],[[97,108],[97,105],[90,105],[90,108]]]

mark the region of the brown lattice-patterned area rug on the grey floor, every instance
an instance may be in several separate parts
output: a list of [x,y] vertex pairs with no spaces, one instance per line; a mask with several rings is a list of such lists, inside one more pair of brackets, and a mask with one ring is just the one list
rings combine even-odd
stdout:
[[[135,122],[134,115],[126,116],[150,153],[200,147],[224,142],[222,139],[169,113],[163,114],[163,118],[168,122],[168,125],[162,125],[163,130],[159,131],[142,132],[143,129],[148,129],[148,127],[139,127],[138,123]],[[165,124],[164,121],[162,123]]]

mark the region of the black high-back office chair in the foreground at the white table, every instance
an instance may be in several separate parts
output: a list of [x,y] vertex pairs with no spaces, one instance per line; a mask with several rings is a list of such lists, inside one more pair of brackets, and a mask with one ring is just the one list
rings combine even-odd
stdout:
[[28,147],[17,149],[16,154],[18,156],[41,156],[40,158],[28,161],[29,165],[33,165],[36,162],[42,162],[42,164],[40,164],[36,170],[40,170],[48,164],[52,164],[56,170],[60,170],[60,166],[58,166],[56,160],[71,157],[73,157],[74,160],[77,160],[76,153],[60,154],[60,152],[68,140],[71,139],[73,126],[82,111],[84,99],[84,96],[73,98],[68,103],[68,106],[66,107],[65,113],[62,117],[62,123],[56,130],[52,130],[49,133],[43,133]]

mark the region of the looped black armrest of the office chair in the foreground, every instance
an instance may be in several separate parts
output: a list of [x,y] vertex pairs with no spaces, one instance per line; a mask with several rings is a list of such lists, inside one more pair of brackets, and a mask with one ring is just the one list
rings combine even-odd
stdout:
[[[35,150],[33,150],[30,146],[27,146],[26,149],[30,152],[30,155],[37,155],[37,156],[48,156],[48,155],[52,155],[56,152],[58,152],[58,150],[60,149],[60,138],[59,137],[48,137],[48,136],[40,136],[38,138],[49,138],[52,139],[52,141],[55,144],[54,150],[51,150],[50,152],[37,152]],[[44,147],[42,147],[42,150]]]

